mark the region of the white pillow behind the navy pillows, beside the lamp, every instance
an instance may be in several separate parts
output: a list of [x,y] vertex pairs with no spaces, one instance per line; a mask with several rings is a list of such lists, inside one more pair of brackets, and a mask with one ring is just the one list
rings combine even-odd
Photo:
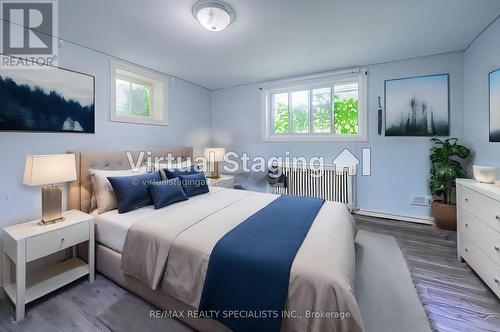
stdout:
[[97,202],[97,212],[104,213],[118,207],[115,192],[113,191],[111,183],[108,181],[108,176],[132,176],[144,174],[146,173],[146,168],[141,167],[139,172],[132,172],[131,169],[119,171],[89,169],[89,173],[92,179],[93,195],[95,195]]

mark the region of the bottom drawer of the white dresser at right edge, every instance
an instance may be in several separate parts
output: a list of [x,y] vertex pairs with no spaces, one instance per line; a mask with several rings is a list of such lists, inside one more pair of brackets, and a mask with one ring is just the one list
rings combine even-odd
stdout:
[[460,254],[483,281],[500,297],[500,266],[466,235],[460,237]]

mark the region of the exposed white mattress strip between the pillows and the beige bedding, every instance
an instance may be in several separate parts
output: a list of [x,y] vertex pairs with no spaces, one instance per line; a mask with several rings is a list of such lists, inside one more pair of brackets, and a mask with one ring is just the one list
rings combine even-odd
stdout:
[[93,213],[96,241],[110,249],[113,249],[114,251],[122,253],[128,229],[132,226],[132,224],[140,222],[141,220],[153,218],[158,214],[165,213],[169,209],[177,208],[183,205],[191,205],[196,200],[221,190],[224,190],[224,188],[210,187],[210,193],[208,194],[195,196],[187,201],[172,204],[158,210],[155,210],[154,206],[149,205],[122,214],[119,214],[117,209],[100,214]]

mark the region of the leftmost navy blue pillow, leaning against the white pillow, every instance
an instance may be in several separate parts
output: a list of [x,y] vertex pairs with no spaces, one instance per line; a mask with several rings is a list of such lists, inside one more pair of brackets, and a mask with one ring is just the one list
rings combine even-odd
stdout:
[[118,213],[153,204],[148,184],[161,181],[160,172],[132,176],[108,177],[115,191]]

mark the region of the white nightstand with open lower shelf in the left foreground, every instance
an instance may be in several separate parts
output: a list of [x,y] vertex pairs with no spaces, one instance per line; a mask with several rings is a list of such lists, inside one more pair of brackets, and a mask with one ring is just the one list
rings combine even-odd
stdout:
[[[24,306],[84,275],[94,282],[94,222],[77,210],[63,212],[64,221],[39,225],[39,220],[5,227],[3,234],[3,287],[16,306],[16,321],[24,318]],[[89,241],[88,264],[76,256],[78,243]],[[26,264],[73,247],[71,258],[26,276]],[[11,280],[11,263],[15,280]]]

